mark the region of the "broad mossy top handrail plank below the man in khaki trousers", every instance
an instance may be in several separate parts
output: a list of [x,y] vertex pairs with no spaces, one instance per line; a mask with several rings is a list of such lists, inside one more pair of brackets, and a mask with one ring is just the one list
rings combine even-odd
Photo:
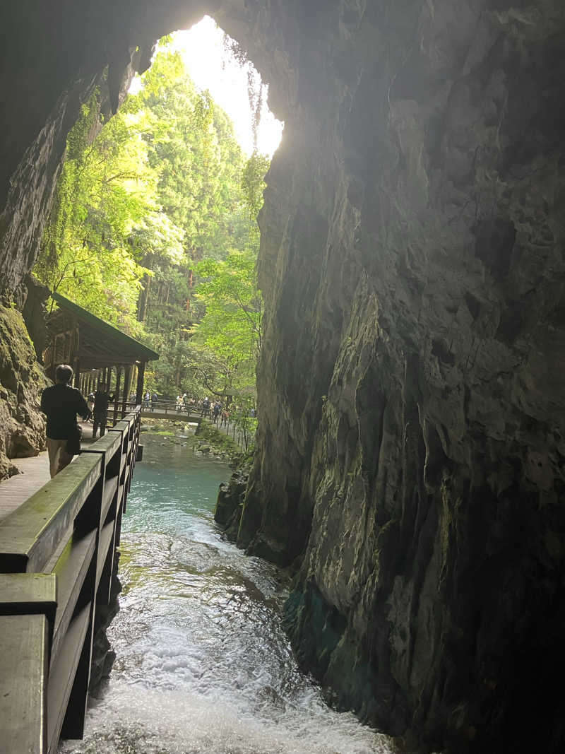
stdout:
[[0,572],[41,572],[99,479],[98,454],[80,455],[0,526]]

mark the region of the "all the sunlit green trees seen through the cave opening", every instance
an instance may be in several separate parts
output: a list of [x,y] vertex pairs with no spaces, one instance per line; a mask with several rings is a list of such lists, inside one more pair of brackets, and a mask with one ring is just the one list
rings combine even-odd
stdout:
[[160,51],[106,124],[100,93],[69,134],[38,278],[160,353],[145,385],[254,400],[255,285],[268,158]]

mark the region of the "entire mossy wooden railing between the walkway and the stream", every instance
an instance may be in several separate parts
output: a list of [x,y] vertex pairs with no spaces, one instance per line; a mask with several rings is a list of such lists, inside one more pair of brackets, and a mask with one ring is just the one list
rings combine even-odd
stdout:
[[2,754],[51,754],[83,735],[139,423],[137,406],[0,524]]

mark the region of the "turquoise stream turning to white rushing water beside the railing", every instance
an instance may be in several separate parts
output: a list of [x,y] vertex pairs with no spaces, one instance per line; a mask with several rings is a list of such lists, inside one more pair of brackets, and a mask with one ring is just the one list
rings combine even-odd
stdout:
[[224,464],[144,436],[124,516],[116,661],[64,754],[391,754],[295,664],[273,566],[221,539]]

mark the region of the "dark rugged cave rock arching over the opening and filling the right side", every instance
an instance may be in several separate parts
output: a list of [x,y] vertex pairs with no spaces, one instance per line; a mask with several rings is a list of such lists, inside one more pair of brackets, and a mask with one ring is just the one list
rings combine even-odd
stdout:
[[105,63],[116,105],[132,57],[214,15],[286,121],[240,544],[300,566],[286,624],[344,706],[454,752],[562,751],[561,0],[62,5],[3,48],[5,288]]

